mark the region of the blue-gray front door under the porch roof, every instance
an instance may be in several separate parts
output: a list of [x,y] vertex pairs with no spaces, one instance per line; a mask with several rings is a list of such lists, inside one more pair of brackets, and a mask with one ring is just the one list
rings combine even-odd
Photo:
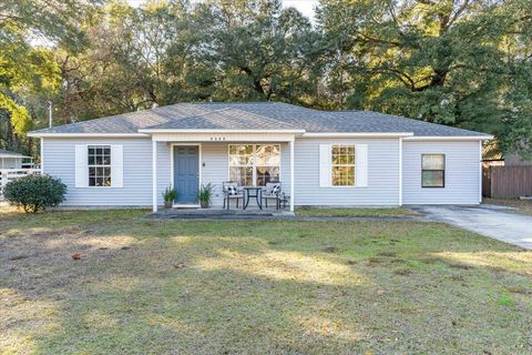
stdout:
[[174,146],[174,186],[177,190],[176,203],[197,203],[200,185],[198,149],[192,145]]

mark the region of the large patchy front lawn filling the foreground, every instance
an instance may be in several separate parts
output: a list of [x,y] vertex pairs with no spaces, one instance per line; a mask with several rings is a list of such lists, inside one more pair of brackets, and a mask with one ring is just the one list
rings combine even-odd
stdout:
[[0,211],[0,353],[532,349],[532,252],[437,223],[145,213]]

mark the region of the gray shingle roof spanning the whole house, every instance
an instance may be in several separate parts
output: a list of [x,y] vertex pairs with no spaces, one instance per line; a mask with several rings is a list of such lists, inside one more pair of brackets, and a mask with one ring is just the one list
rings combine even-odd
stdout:
[[139,129],[295,129],[306,132],[488,134],[370,111],[318,111],[279,102],[177,103],[32,133],[137,133]]

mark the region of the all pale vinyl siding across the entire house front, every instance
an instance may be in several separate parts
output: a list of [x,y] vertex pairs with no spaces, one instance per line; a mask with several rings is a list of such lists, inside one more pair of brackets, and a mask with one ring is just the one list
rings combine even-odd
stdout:
[[[81,151],[78,151],[76,145],[82,145],[86,149],[89,144],[122,146],[122,166],[120,164],[115,166],[112,162],[113,170],[120,170],[120,168],[123,170],[122,184],[120,184],[119,178],[112,178],[117,186],[122,185],[122,187],[76,187],[76,154],[80,155],[80,161],[86,162],[86,151],[81,153]],[[229,142],[205,142],[202,143],[201,149],[202,183],[212,182],[214,184],[213,205],[216,206],[222,205],[222,182],[228,180],[228,144]],[[360,146],[355,153],[355,179],[361,186],[344,189],[323,186],[320,179],[320,145],[330,146],[331,144],[367,145],[367,159],[360,158],[364,154],[364,152],[360,153]],[[156,146],[157,201],[162,204],[161,193],[172,183],[171,144],[158,142]],[[444,189],[421,187],[421,154],[431,153],[446,154]],[[81,156],[82,154],[85,156]],[[120,153],[116,152],[115,154]],[[280,155],[283,190],[291,195],[289,191],[290,152],[288,143],[280,143]],[[43,143],[43,156],[45,156],[44,173],[60,178],[68,186],[65,205],[151,206],[152,204],[152,141],[150,138],[48,138]],[[358,161],[358,159],[362,161]],[[296,139],[295,204],[329,206],[398,205],[400,195],[399,161],[398,139]],[[405,204],[477,204],[479,202],[480,164],[478,141],[403,141],[402,161],[402,196]],[[364,175],[357,175],[357,170],[364,162],[367,162],[366,185],[364,184]],[[84,171],[88,174],[88,170]],[[330,174],[330,169],[328,171]],[[79,185],[83,185],[85,178],[80,175],[79,180]]]

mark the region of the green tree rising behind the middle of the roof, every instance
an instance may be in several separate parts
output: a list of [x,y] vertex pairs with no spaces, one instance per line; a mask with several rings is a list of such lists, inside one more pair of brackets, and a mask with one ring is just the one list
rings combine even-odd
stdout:
[[311,104],[310,70],[319,34],[295,9],[275,1],[211,1],[203,6],[203,57],[218,69],[215,100]]

